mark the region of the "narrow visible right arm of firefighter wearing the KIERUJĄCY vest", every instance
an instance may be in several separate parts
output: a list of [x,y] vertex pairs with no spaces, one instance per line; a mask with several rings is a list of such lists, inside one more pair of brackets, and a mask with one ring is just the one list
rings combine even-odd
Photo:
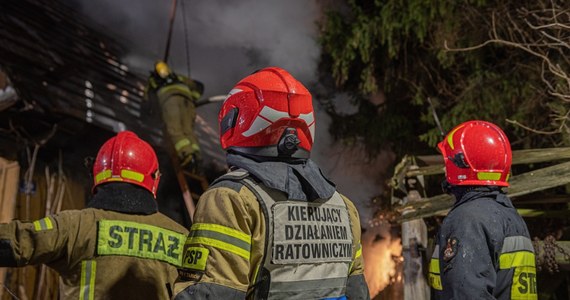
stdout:
[[350,266],[346,296],[348,299],[370,299],[368,285],[364,280],[364,260],[362,258],[362,244],[360,237],[362,230],[360,228],[360,217],[358,210],[354,204],[346,197],[342,196],[348,208],[348,215],[350,217],[350,224],[352,228],[353,247],[352,247],[352,264]]

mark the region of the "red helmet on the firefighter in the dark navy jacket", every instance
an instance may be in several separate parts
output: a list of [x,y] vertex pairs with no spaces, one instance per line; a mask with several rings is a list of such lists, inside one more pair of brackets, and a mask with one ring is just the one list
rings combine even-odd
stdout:
[[438,145],[451,185],[509,186],[511,145],[497,125],[468,121],[453,128]]

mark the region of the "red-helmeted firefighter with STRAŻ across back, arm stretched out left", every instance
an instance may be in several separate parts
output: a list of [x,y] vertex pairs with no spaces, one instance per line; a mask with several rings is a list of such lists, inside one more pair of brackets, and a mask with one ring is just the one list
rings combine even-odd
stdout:
[[170,299],[188,230],[158,212],[158,161],[120,132],[99,150],[82,210],[0,224],[0,267],[46,264],[61,299]]

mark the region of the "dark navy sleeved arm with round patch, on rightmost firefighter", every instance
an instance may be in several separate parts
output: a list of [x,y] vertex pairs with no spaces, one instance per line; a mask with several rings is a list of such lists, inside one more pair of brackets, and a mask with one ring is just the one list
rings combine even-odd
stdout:
[[450,229],[443,225],[440,238],[442,298],[494,299],[497,272],[485,216],[465,211],[455,217]]

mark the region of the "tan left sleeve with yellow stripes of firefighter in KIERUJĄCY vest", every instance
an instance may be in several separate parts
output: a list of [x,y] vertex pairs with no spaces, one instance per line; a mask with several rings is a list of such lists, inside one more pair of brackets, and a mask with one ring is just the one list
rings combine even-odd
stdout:
[[[250,280],[251,199],[238,183],[223,181],[202,195],[186,245],[175,299],[244,299]],[[225,186],[224,186],[225,185]],[[238,186],[239,185],[239,186]],[[242,191],[240,193],[240,190]],[[250,192],[251,193],[251,192]],[[253,196],[253,194],[251,195]],[[186,280],[186,282],[184,282]]]

